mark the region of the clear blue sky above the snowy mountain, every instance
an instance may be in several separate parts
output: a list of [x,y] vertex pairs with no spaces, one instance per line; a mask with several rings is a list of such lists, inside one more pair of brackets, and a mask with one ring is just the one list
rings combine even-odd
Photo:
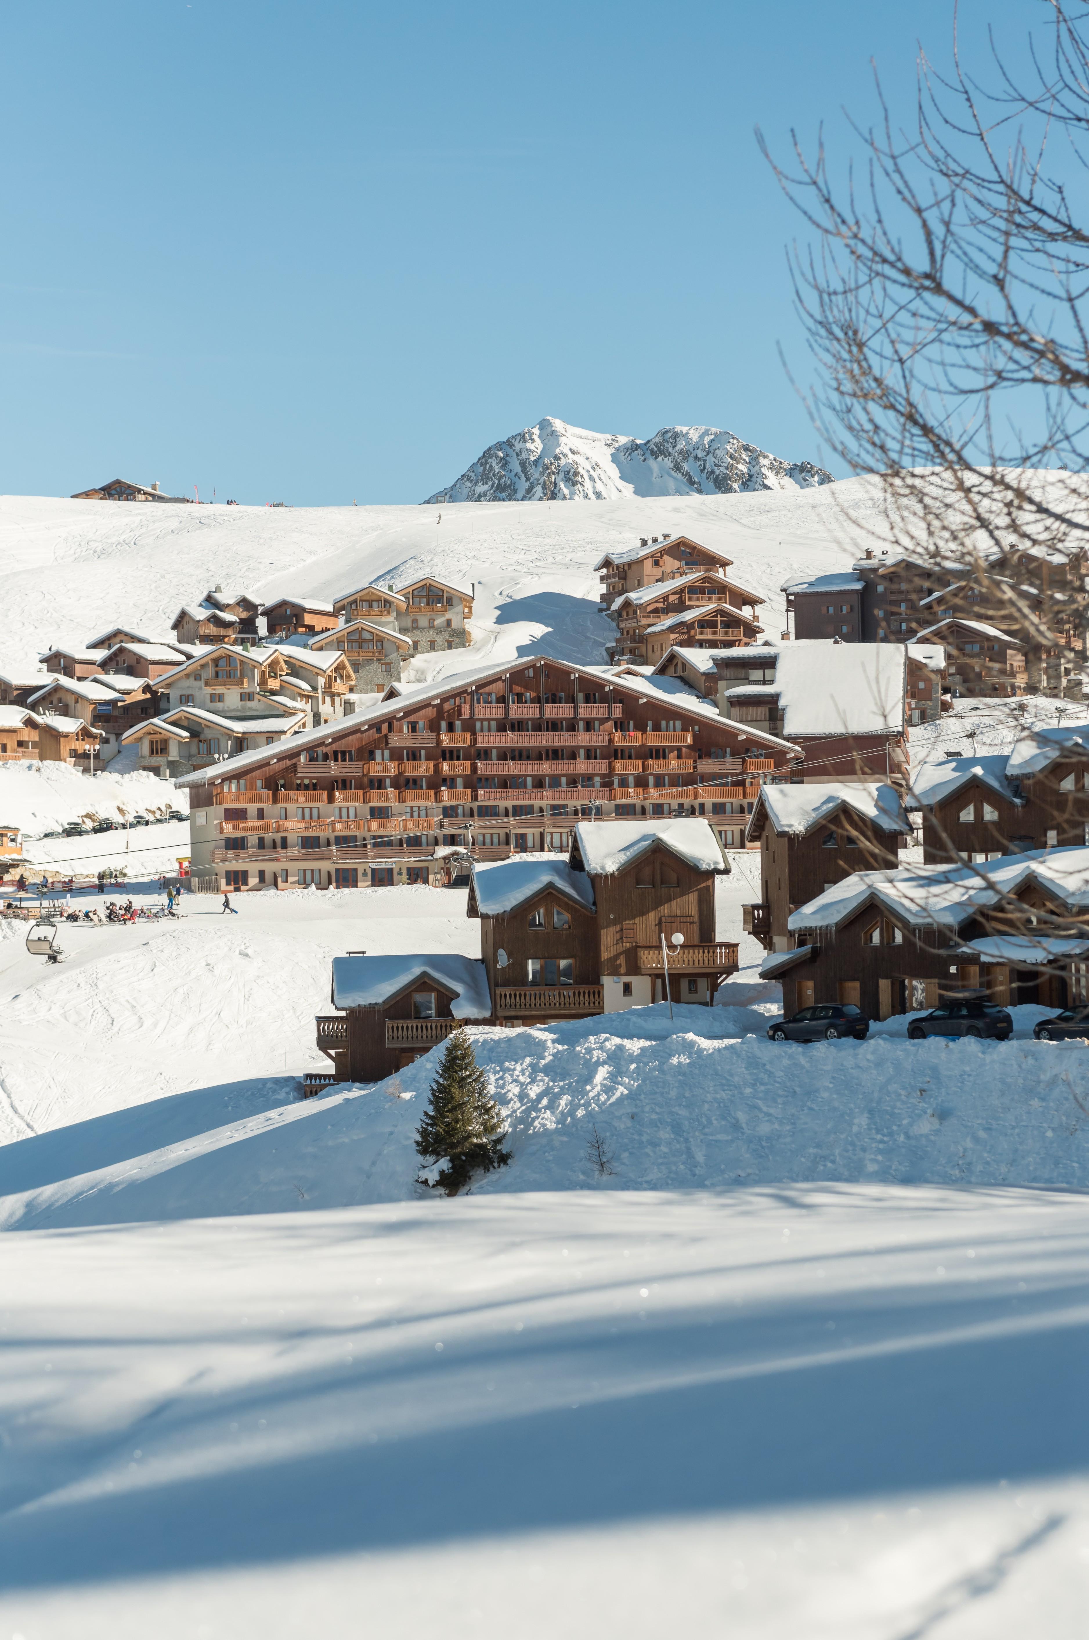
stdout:
[[[1018,26],[1043,5],[968,7]],[[541,415],[817,438],[786,153],[951,5],[49,0],[2,23],[0,489],[413,502]]]

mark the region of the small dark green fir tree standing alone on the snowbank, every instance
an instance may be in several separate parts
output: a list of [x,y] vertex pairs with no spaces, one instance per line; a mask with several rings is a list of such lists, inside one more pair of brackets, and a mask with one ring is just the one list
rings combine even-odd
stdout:
[[431,1099],[417,1133],[417,1153],[428,1163],[444,1161],[438,1184],[456,1196],[474,1173],[490,1173],[510,1161],[503,1150],[503,1120],[492,1099],[487,1076],[476,1063],[464,1027],[449,1036]]

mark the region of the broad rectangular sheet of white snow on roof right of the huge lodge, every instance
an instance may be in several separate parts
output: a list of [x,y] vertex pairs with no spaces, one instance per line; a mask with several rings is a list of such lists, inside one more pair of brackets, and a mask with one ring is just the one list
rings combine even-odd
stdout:
[[786,643],[777,651],[774,684],[743,684],[727,695],[777,694],[786,740],[899,735],[905,679],[902,643]]

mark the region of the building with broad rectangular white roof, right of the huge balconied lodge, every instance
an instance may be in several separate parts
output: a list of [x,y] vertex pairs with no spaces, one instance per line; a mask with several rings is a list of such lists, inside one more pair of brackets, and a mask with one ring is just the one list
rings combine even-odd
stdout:
[[723,717],[781,735],[802,751],[792,779],[904,784],[904,645],[758,645],[718,654],[715,667]]

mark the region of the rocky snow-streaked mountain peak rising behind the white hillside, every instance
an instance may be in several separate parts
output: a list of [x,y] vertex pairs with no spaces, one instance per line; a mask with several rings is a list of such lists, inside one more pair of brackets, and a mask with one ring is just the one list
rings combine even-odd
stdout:
[[490,444],[426,503],[736,495],[832,482],[812,461],[784,461],[717,426],[663,426],[638,440],[544,417]]

